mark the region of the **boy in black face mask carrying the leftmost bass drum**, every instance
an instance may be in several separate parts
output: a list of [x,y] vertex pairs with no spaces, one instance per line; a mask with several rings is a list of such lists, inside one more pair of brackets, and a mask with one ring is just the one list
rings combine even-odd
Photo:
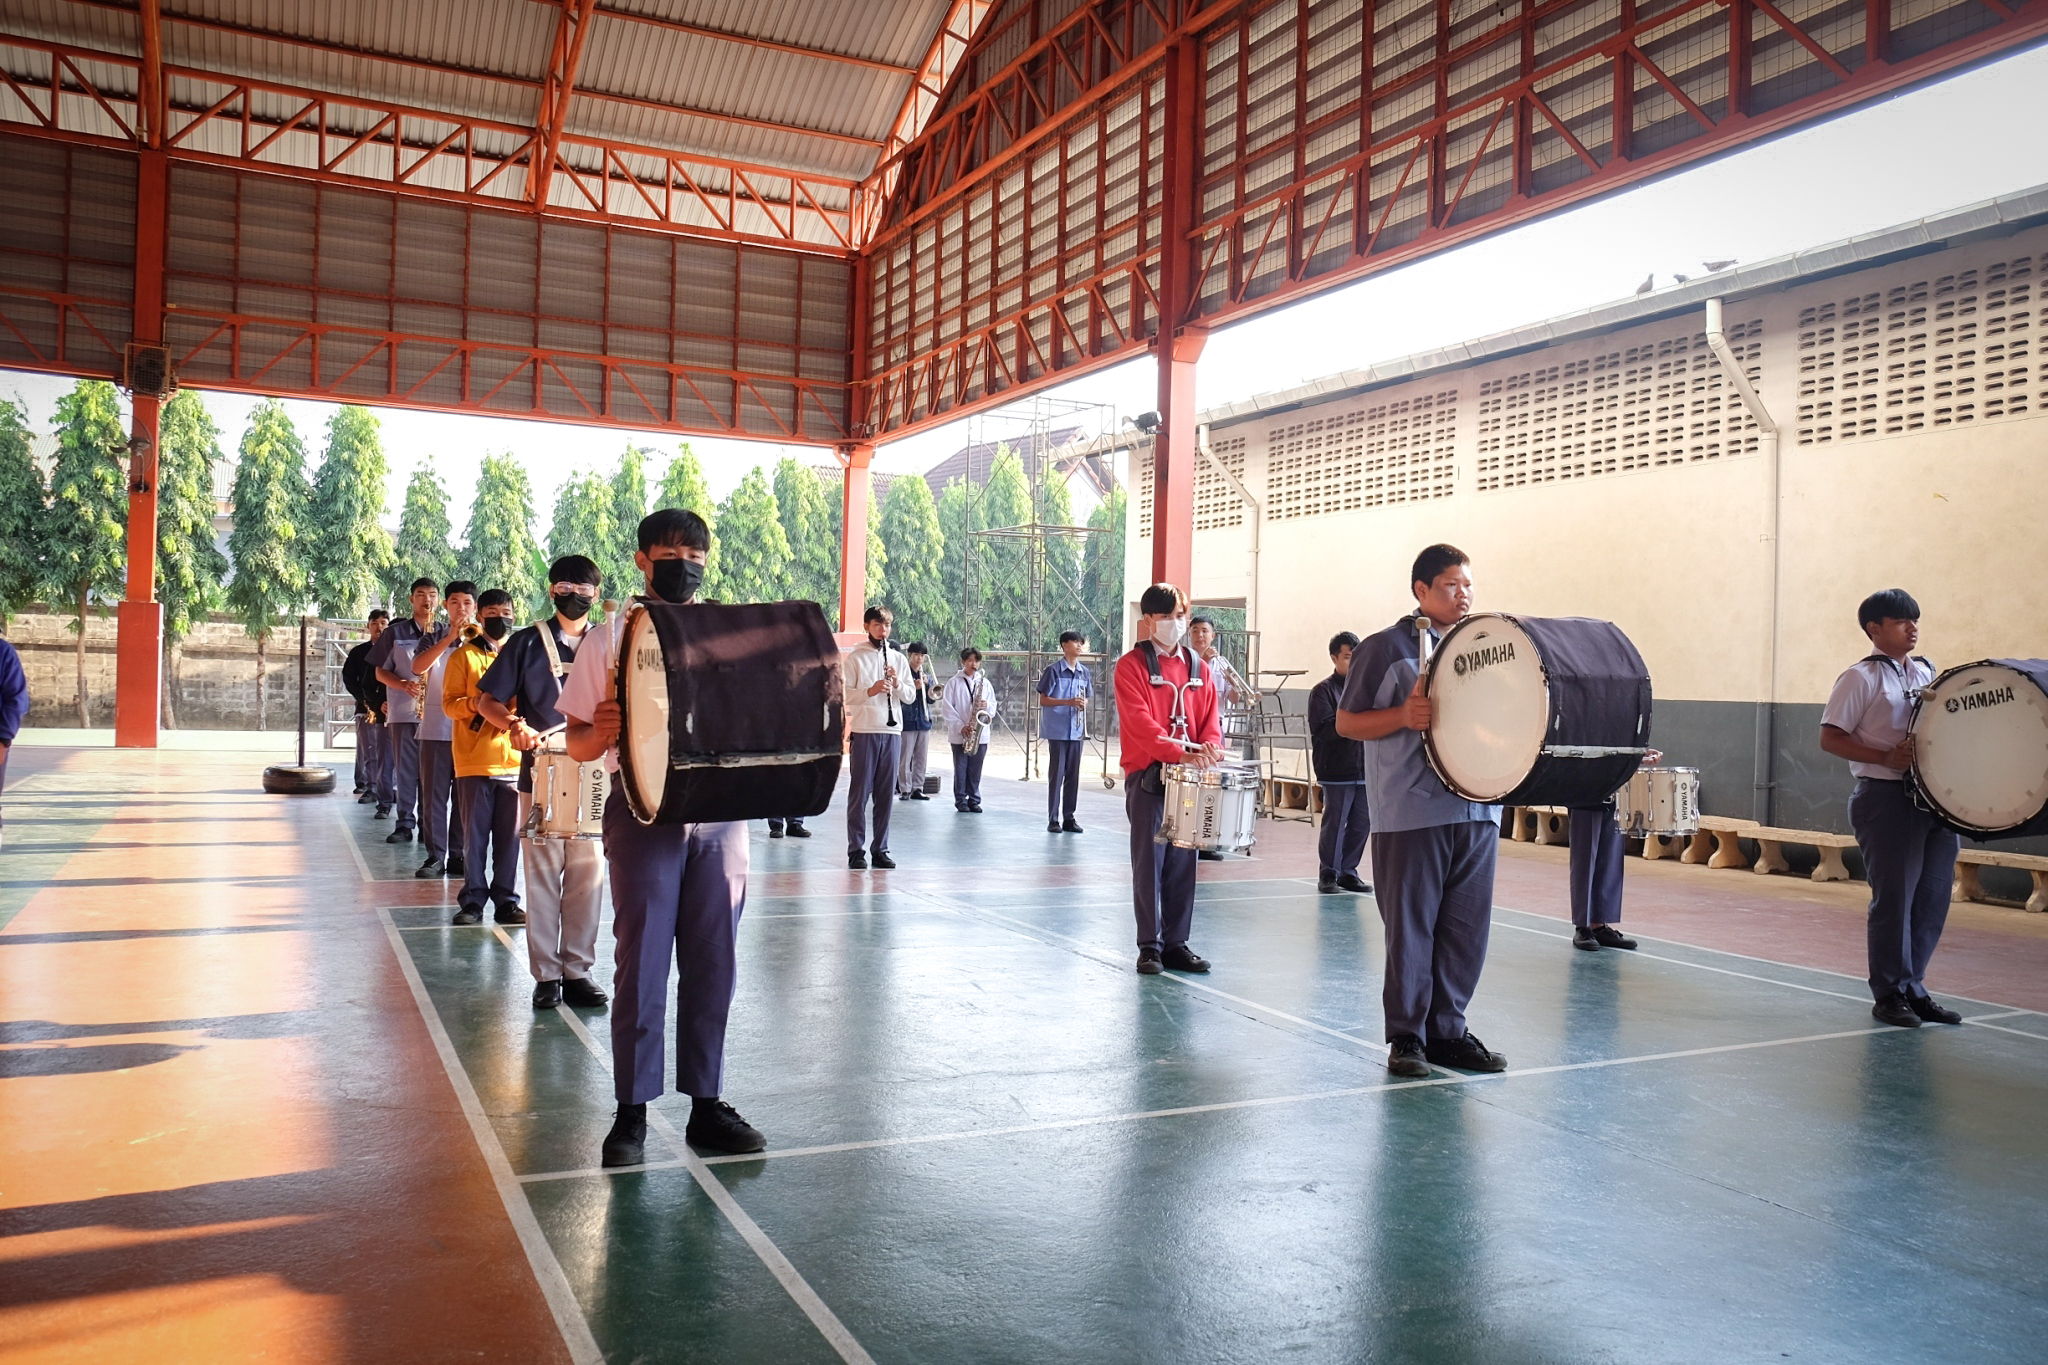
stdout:
[[[690,602],[705,577],[711,530],[694,512],[662,508],[639,524],[633,563],[647,593]],[[621,712],[612,632],[596,624],[575,649],[555,708],[569,722],[578,763],[602,757],[612,776],[604,802],[604,860],[612,874],[612,1087],[618,1113],[604,1136],[606,1166],[647,1160],[647,1101],[666,1089],[668,968],[676,964],[676,1089],[690,1097],[690,1146],[758,1152],[760,1130],[719,1095],[725,1019],[737,980],[735,941],[748,898],[748,825],[641,825],[618,790]]]

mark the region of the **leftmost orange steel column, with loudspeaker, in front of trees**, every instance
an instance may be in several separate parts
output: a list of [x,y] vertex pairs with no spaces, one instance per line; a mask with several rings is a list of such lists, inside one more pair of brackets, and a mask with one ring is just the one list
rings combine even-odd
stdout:
[[[135,329],[137,342],[164,340],[164,237],[170,221],[170,164],[141,153],[135,186]],[[158,401],[135,395],[129,444],[129,577],[115,645],[115,745],[156,749],[162,704],[164,604],[156,600]]]

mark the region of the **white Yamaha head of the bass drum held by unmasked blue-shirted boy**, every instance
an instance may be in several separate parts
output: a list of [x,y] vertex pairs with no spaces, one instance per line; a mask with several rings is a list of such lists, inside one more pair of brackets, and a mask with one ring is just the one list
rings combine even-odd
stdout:
[[1542,753],[1550,684],[1536,641],[1511,616],[1466,616],[1444,634],[1427,669],[1430,765],[1466,800],[1516,790]]

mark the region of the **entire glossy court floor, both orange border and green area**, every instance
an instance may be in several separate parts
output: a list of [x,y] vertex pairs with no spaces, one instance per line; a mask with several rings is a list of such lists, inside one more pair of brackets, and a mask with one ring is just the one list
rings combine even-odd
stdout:
[[[1958,907],[1884,1029],[1862,886],[1632,862],[1638,954],[1503,845],[1473,1027],[1391,1083],[1370,898],[1303,825],[1130,972],[1120,798],[754,839],[727,1097],[766,1156],[598,1173],[602,1011],[260,759],[18,749],[6,1361],[2040,1361],[2048,933]],[[346,782],[344,782],[346,786]],[[608,980],[610,935],[600,937]]]

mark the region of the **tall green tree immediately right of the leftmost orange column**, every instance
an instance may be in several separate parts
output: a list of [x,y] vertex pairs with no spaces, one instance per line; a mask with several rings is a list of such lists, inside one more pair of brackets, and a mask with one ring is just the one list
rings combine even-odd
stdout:
[[180,389],[158,420],[156,598],[164,604],[164,724],[176,729],[178,641],[227,593],[227,557],[213,542],[213,467],[221,428],[193,389]]

